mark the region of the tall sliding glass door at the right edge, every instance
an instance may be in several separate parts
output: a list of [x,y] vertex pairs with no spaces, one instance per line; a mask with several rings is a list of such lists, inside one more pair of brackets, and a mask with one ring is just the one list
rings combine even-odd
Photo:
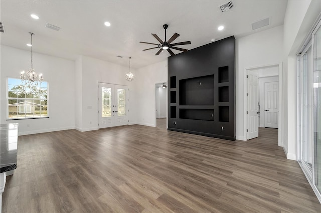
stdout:
[[321,21],[298,55],[298,161],[321,201]]

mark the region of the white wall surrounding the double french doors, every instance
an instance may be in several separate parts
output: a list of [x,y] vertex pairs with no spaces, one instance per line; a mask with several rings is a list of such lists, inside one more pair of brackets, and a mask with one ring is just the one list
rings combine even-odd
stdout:
[[[135,101],[135,81],[137,81],[136,71],[133,81],[126,80],[126,73],[129,67],[120,66],[103,60],[98,60],[86,56],[81,57],[81,109],[78,111],[80,131],[90,131],[98,129],[98,82],[111,83],[117,85],[127,85],[129,88],[129,124],[136,123],[136,101]],[[154,90],[153,90],[154,91]],[[154,98],[155,99],[155,98]],[[153,100],[154,100],[153,99]],[[90,107],[88,107],[90,106]],[[76,115],[78,116],[78,115]]]

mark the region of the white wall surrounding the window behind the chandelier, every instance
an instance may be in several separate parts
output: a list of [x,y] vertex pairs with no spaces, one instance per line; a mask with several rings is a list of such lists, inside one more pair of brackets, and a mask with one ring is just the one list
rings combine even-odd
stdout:
[[[7,78],[29,69],[30,51],[1,46],[1,123],[19,123],[19,135],[73,129],[75,126],[74,61],[33,52],[33,68],[49,84],[49,118],[7,121]],[[29,127],[27,127],[27,125]]]

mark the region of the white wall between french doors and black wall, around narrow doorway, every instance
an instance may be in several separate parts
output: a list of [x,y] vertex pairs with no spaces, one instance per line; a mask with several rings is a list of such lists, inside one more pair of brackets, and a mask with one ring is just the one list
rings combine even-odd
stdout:
[[137,124],[155,127],[155,84],[167,82],[167,60],[137,69],[136,73]]

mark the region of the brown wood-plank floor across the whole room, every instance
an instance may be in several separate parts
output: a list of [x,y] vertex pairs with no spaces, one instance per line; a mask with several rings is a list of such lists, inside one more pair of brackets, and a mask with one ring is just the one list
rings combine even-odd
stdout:
[[3,212],[320,212],[276,129],[227,141],[140,125],[19,136]]

